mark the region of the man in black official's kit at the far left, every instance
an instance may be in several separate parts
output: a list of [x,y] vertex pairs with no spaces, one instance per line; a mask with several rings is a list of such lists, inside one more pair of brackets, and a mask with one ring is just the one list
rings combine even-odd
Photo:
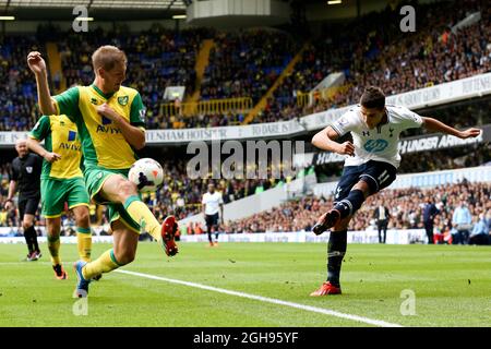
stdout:
[[13,208],[13,197],[19,189],[19,217],[29,251],[26,261],[37,261],[41,253],[37,243],[34,221],[40,200],[43,158],[28,152],[25,140],[19,140],[15,143],[15,151],[19,156],[12,161],[5,209]]

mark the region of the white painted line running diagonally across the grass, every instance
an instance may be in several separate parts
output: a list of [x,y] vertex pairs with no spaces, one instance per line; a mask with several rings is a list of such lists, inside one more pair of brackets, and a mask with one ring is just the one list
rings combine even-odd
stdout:
[[253,299],[253,300],[261,301],[261,302],[267,302],[267,303],[273,303],[273,304],[296,308],[296,309],[300,309],[300,310],[304,310],[304,311],[309,311],[309,312],[313,312],[313,313],[320,313],[320,314],[347,318],[347,320],[357,321],[360,323],[366,323],[366,324],[381,326],[381,327],[403,327],[399,324],[392,324],[392,323],[387,323],[387,322],[380,321],[380,320],[373,320],[373,318],[358,316],[358,315],[345,314],[345,313],[336,312],[334,310],[328,310],[328,309],[324,309],[324,308],[315,308],[315,306],[310,306],[310,305],[304,305],[304,304],[299,304],[299,303],[294,303],[294,302],[287,302],[287,301],[282,301],[279,299],[274,299],[274,298],[249,294],[249,293],[238,292],[238,291],[230,291],[227,289],[217,288],[217,287],[213,287],[213,286],[206,286],[206,285],[202,285],[202,284],[182,281],[182,280],[177,280],[177,279],[169,279],[167,277],[160,277],[160,276],[123,270],[123,269],[117,269],[115,272],[128,274],[128,275],[140,276],[140,277],[144,277],[147,279],[166,281],[166,282],[170,282],[170,284],[184,285],[184,286],[189,286],[189,287],[193,287],[193,288],[201,288],[203,290],[214,291],[214,292],[218,292],[218,293],[225,293],[225,294],[237,296],[237,297],[241,297],[241,298]]

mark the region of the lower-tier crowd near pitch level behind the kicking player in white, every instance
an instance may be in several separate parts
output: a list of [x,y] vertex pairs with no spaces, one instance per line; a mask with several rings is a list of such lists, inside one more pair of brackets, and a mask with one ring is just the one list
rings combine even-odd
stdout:
[[[435,232],[455,233],[452,222],[454,209],[460,201],[464,201],[472,216],[472,224],[477,224],[479,215],[483,214],[487,219],[488,233],[490,233],[490,195],[489,183],[469,183],[467,181],[431,189],[384,190],[366,201],[351,220],[349,230],[366,230],[374,227],[373,212],[381,203],[390,208],[388,229],[423,228],[422,209],[426,198],[431,197],[441,212],[435,219]],[[220,227],[220,231],[226,233],[310,231],[319,219],[319,215],[327,212],[332,204],[331,196],[304,196],[267,212],[227,222]]]

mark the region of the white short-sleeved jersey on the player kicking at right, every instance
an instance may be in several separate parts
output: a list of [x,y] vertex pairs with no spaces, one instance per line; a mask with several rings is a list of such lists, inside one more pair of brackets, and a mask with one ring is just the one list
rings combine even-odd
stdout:
[[403,106],[386,105],[388,122],[369,130],[358,105],[345,112],[331,127],[339,136],[351,132],[355,156],[347,156],[345,166],[359,166],[369,160],[385,161],[399,167],[399,135],[404,130],[420,128],[422,119],[419,115]]

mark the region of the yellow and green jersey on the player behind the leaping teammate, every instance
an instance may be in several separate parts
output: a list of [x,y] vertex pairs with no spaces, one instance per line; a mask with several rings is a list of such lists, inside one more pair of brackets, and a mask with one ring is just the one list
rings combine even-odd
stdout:
[[55,163],[43,160],[41,179],[72,179],[82,177],[80,169],[82,151],[79,132],[65,115],[43,116],[28,136],[45,141],[48,152],[57,153],[61,159]]

